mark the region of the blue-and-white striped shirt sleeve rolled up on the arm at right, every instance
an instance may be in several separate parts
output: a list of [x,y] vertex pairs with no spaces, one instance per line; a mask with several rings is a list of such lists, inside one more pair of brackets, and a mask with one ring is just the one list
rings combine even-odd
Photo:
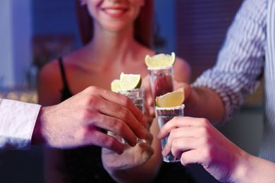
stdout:
[[214,89],[224,101],[223,122],[257,89],[264,69],[267,1],[245,0],[228,28],[216,64],[192,84]]

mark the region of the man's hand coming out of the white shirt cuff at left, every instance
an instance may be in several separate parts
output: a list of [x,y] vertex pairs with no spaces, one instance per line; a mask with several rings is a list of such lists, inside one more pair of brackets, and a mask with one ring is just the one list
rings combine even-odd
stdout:
[[121,154],[123,145],[101,130],[119,134],[135,146],[135,136],[145,138],[145,124],[144,115],[128,97],[88,87],[56,106],[41,108],[32,144],[54,149],[95,145]]

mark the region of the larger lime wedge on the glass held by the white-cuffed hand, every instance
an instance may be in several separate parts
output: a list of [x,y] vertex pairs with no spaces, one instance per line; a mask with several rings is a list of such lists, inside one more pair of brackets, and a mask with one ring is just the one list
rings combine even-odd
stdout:
[[121,89],[136,89],[141,86],[140,75],[126,75],[121,73],[120,87]]

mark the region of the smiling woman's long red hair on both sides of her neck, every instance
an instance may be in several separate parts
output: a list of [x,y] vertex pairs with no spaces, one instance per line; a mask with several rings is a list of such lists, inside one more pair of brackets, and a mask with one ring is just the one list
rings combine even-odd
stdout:
[[[78,29],[82,44],[87,44],[93,37],[93,20],[87,10],[87,6],[81,6],[78,0],[75,0],[76,15],[78,19]],[[145,6],[140,9],[140,14],[135,20],[134,37],[135,39],[152,48],[154,30],[154,0],[146,0]]]

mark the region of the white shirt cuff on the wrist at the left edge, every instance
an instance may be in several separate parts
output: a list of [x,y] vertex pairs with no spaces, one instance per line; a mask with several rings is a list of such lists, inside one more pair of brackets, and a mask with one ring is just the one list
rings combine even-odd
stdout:
[[0,149],[30,149],[40,105],[0,99]]

